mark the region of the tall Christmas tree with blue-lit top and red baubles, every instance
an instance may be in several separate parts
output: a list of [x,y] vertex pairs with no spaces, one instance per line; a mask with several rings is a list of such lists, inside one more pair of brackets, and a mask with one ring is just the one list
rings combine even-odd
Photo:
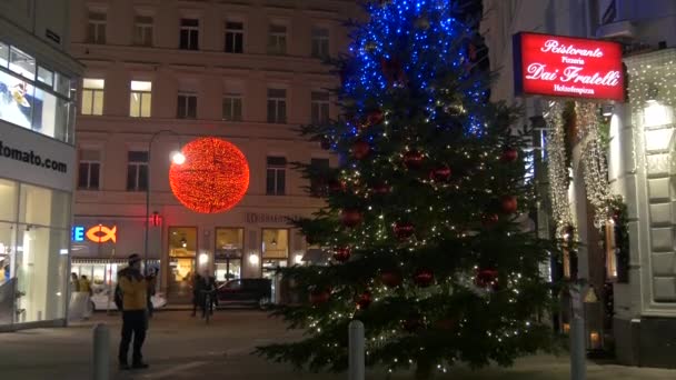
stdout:
[[276,313],[307,334],[259,353],[345,370],[354,319],[367,364],[419,378],[546,349],[539,266],[554,244],[524,227],[535,202],[527,133],[511,128],[515,109],[488,102],[476,28],[457,1],[365,9],[336,62],[341,117],[302,129],[340,157],[335,169],[298,164],[327,206],[296,224],[332,258],[284,270],[300,302]]

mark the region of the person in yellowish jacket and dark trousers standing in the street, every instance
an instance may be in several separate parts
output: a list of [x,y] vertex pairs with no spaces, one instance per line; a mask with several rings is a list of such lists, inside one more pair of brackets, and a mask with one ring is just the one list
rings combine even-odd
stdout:
[[[121,370],[143,369],[141,348],[146,340],[148,329],[148,283],[141,273],[141,257],[129,256],[129,267],[118,273],[118,281],[122,291],[122,339],[120,341],[119,364]],[[128,363],[129,343],[133,334],[133,352],[131,367]]]

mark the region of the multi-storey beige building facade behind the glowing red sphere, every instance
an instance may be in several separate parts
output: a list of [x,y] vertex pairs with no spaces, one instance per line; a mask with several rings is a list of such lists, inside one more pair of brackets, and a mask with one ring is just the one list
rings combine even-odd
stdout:
[[[337,116],[329,93],[337,81],[322,59],[347,47],[342,21],[357,6],[71,3],[71,52],[86,66],[73,270],[110,284],[129,253],[146,253],[147,226],[148,257],[170,302],[189,300],[202,269],[223,281],[301,262],[308,247],[287,218],[309,217],[322,201],[291,162],[328,167],[336,158],[297,127]],[[171,151],[205,136],[233,143],[249,163],[246,197],[223,213],[188,210],[169,186]],[[89,239],[99,224],[116,239]]]

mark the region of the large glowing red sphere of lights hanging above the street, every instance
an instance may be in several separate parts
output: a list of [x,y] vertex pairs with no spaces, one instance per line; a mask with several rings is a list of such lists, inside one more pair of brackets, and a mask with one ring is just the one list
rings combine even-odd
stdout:
[[223,212],[233,208],[249,188],[249,163],[232,143],[213,137],[189,142],[186,162],[171,163],[169,182],[176,198],[192,211]]

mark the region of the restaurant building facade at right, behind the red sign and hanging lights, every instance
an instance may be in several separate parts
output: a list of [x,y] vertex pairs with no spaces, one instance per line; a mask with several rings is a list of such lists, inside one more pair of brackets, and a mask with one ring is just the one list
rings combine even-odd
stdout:
[[[676,146],[674,99],[670,88],[676,33],[676,4],[666,1],[486,1],[487,44],[501,77],[493,88],[497,100],[514,101],[526,109],[525,124],[536,128],[534,147],[540,168],[549,163],[547,144],[551,126],[546,117],[553,99],[515,98],[511,34],[535,31],[548,34],[604,39],[622,43],[628,78],[625,102],[596,103],[607,126],[603,161],[607,162],[605,192],[626,204],[620,219],[595,226],[596,209],[585,178],[588,140],[570,143],[570,183],[564,191],[575,224],[577,278],[589,282],[585,318],[587,346],[614,352],[622,363],[674,367],[676,339]],[[570,99],[564,99],[570,100]],[[573,99],[575,100],[575,99]],[[577,123],[579,127],[579,123]],[[538,162],[536,162],[538,163]],[[536,164],[537,167],[537,164]],[[551,193],[546,169],[536,177],[543,193]],[[545,202],[538,218],[540,233],[553,234],[551,209]],[[615,226],[623,220],[622,227]],[[619,228],[619,229],[618,229]],[[626,229],[626,249],[617,233]],[[624,251],[627,252],[624,252]],[[626,262],[623,263],[623,256]],[[551,267],[570,271],[571,262]],[[568,273],[568,277],[570,273]],[[567,312],[555,326],[566,330]]]

